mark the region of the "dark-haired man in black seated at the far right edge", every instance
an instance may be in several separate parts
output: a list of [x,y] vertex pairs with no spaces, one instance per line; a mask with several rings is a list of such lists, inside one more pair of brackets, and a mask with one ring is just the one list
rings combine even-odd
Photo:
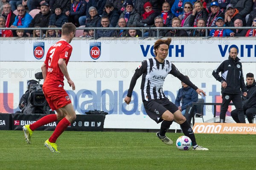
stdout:
[[[249,123],[253,123],[253,119],[256,114],[256,82],[252,73],[246,74],[246,88],[247,96],[242,96],[244,115],[247,116]],[[236,123],[241,123],[236,109],[231,111],[231,116]]]

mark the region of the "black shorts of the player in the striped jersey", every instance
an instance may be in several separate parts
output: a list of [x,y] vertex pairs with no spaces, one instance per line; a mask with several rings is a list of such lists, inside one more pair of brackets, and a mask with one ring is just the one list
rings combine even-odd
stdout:
[[165,111],[168,110],[171,113],[175,113],[179,110],[168,98],[143,101],[143,105],[148,116],[157,123],[163,121],[162,115]]

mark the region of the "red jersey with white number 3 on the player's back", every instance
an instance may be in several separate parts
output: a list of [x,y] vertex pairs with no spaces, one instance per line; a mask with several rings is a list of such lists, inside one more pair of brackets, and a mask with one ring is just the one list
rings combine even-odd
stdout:
[[44,81],[44,85],[52,87],[64,86],[64,74],[61,72],[58,60],[61,58],[66,59],[67,65],[72,49],[72,46],[65,40],[59,40],[49,48],[44,61],[47,69],[47,76]]

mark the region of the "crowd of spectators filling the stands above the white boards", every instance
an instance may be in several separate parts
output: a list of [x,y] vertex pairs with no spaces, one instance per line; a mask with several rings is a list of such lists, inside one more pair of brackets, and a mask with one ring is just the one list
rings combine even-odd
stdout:
[[[163,37],[203,37],[205,29],[174,27],[216,27],[212,37],[256,37],[256,0],[0,0],[0,37],[60,37],[64,23],[86,27],[82,37],[93,37],[90,27],[169,27]],[[121,20],[120,20],[121,19]],[[125,23],[124,23],[125,22]],[[18,28],[52,28],[24,31]],[[16,31],[4,28],[17,28]],[[7,32],[7,33],[5,33]],[[157,31],[96,31],[99,37],[151,37]]]

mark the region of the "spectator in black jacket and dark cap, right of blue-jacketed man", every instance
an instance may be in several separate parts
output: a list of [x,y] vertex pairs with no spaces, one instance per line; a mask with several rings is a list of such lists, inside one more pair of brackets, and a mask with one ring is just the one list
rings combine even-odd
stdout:
[[[49,19],[51,16],[51,13],[49,12],[49,3],[42,3],[41,12],[35,15],[31,23],[29,24],[29,28],[35,28],[36,26],[39,26],[41,28],[46,28],[49,25]],[[43,31],[43,30],[42,30]],[[27,36],[30,37],[30,34],[32,31],[27,31]],[[46,31],[44,31],[46,33]]]

